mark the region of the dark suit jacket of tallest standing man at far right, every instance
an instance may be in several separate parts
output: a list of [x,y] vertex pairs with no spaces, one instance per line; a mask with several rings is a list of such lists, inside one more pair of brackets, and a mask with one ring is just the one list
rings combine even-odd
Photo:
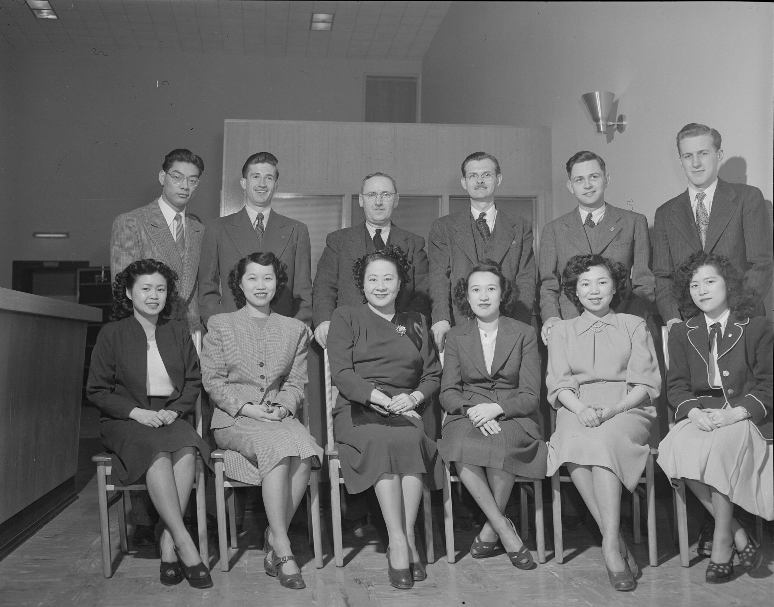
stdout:
[[[680,318],[676,299],[670,292],[674,268],[700,248],[699,231],[686,189],[659,206],[653,225],[656,304],[664,322]],[[771,288],[774,252],[772,222],[761,190],[717,179],[704,251],[726,255],[745,272],[747,285],[755,294],[753,302],[758,306],[755,312],[765,315],[762,299]]]

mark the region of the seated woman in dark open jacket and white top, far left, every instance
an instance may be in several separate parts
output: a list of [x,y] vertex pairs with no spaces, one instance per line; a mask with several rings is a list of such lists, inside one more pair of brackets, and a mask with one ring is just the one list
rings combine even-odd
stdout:
[[183,524],[197,449],[207,465],[210,450],[184,421],[194,411],[201,375],[186,324],[166,318],[177,298],[176,280],[169,266],[153,259],[118,273],[114,322],[97,337],[86,390],[102,413],[102,443],[113,453],[113,473],[127,485],[145,475],[164,523],[161,583],[179,584],[184,572],[194,588],[210,588],[207,564]]

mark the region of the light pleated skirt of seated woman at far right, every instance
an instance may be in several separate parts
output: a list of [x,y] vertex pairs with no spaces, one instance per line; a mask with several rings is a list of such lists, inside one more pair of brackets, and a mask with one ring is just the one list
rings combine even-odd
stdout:
[[659,445],[659,465],[670,479],[713,486],[732,503],[774,519],[774,447],[745,419],[707,432],[678,421]]

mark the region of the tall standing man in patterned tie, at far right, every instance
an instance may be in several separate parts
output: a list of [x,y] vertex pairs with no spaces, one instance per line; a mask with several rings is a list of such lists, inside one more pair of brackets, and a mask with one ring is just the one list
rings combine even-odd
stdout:
[[680,164],[688,188],[656,210],[653,274],[656,304],[666,326],[681,322],[670,292],[674,268],[694,251],[725,255],[745,273],[755,312],[765,315],[763,298],[774,272],[772,223],[761,190],[717,178],[723,159],[721,134],[704,124],[686,124],[677,134]]

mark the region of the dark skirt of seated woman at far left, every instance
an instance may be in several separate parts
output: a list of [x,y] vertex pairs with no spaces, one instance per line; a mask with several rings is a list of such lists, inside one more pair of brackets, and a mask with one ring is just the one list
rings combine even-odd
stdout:
[[[166,398],[149,397],[149,409],[159,411]],[[162,452],[196,447],[212,468],[210,448],[197,435],[190,421],[176,419],[168,426],[151,428],[138,421],[111,419],[101,422],[102,445],[113,455],[113,474],[124,485],[133,485],[145,475],[150,462]]]

